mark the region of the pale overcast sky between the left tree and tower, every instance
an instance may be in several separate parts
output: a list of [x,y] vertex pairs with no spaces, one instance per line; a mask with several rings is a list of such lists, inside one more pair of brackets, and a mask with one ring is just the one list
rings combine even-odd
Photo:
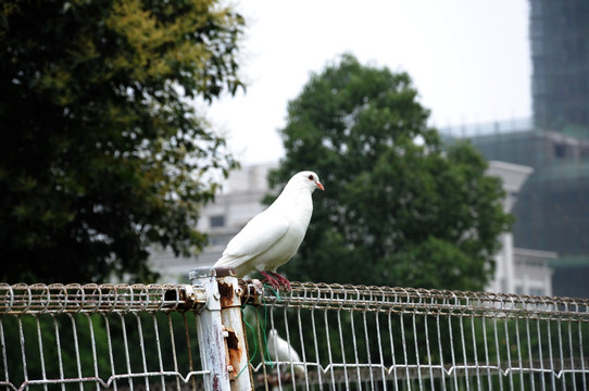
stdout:
[[246,93],[208,110],[242,164],[277,161],[287,102],[341,53],[408,72],[430,124],[531,115],[527,0],[241,0]]

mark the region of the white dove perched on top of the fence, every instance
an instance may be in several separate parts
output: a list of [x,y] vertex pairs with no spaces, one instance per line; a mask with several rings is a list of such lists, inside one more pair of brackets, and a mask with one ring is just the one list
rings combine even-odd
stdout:
[[317,174],[304,171],[294,174],[278,198],[255,215],[227,244],[213,267],[234,267],[238,277],[260,272],[275,288],[290,282],[276,273],[294,255],[303,241],[311,214],[315,189],[324,190]]

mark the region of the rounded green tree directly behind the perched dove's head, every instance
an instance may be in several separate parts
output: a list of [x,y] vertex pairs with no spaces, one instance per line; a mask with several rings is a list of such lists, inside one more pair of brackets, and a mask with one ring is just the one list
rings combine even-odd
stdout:
[[510,229],[499,178],[468,143],[427,126],[406,73],[350,54],[311,76],[288,105],[286,157],[272,185],[315,171],[326,191],[289,278],[481,289]]

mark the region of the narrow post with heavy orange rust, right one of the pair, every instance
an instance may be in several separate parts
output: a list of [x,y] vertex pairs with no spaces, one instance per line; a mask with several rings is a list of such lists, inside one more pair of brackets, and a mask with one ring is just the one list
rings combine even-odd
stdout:
[[234,268],[217,268],[215,272],[221,293],[221,319],[226,332],[231,391],[251,391],[253,382],[241,313],[242,289]]

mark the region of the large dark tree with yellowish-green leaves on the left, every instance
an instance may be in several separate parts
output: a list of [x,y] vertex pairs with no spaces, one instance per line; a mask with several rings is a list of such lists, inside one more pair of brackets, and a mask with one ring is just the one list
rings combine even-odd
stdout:
[[236,162],[193,101],[242,86],[242,29],[215,0],[2,2],[2,281],[147,280],[150,243],[202,247]]

